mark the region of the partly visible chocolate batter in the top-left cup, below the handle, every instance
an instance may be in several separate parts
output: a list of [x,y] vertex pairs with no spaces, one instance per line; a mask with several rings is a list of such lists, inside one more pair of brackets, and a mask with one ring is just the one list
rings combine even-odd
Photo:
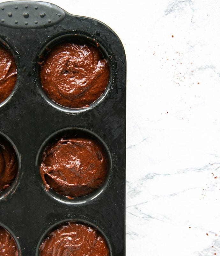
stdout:
[[17,80],[15,61],[8,50],[0,45],[0,103],[11,94]]

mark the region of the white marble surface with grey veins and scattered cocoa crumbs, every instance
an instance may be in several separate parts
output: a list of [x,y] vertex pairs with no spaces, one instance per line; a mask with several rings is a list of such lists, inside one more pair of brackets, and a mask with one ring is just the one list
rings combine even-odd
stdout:
[[49,2],[125,47],[126,255],[220,255],[220,2]]

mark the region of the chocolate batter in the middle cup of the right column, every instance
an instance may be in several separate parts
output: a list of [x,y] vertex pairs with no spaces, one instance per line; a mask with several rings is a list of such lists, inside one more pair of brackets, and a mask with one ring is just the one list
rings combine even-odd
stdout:
[[69,197],[90,194],[107,173],[106,153],[98,141],[85,138],[60,139],[42,156],[40,174],[46,188]]

